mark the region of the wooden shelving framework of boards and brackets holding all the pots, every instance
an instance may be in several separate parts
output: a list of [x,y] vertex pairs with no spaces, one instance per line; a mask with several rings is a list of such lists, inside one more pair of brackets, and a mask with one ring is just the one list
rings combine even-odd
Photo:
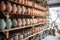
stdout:
[[[27,7],[27,9],[28,8],[32,8],[32,10],[39,10],[39,11],[41,11],[42,13],[41,14],[43,14],[43,12],[47,12],[47,8],[46,7],[44,7],[44,5],[40,5],[40,7],[42,7],[42,8],[37,8],[37,7],[35,7],[35,5],[34,5],[34,3],[39,3],[39,2],[36,2],[36,1],[34,1],[34,0],[31,0],[32,1],[32,3],[33,3],[33,6],[29,6],[29,5],[26,5],[26,4],[22,4],[22,3],[18,3],[18,2],[15,2],[15,1],[11,1],[11,0],[1,0],[1,1],[4,1],[4,2],[10,2],[11,3],[11,5],[12,4],[16,4],[16,5],[20,5],[20,6],[25,6],[25,7]],[[26,1],[30,1],[30,0],[26,0]],[[44,4],[44,1],[41,1],[43,4]],[[38,5],[38,4],[37,4]],[[36,11],[35,10],[35,11]],[[1,11],[0,11],[1,12]],[[35,18],[35,17],[46,17],[46,16],[49,16],[49,14],[48,13],[46,13],[44,16],[43,15],[33,15],[33,13],[32,14],[28,14],[28,12],[27,12],[27,14],[13,14],[12,12],[11,12],[11,14],[9,13],[9,12],[6,12],[6,11],[2,11],[1,13],[3,13],[3,15],[6,17],[6,18],[9,18],[9,17],[11,17],[11,15],[23,15],[23,16],[31,16],[31,19],[37,19],[37,18]],[[37,14],[37,13],[36,13]],[[30,38],[30,37],[33,37],[33,36],[35,36],[35,35],[37,35],[37,34],[39,34],[39,33],[41,33],[41,32],[43,32],[44,30],[47,30],[48,28],[46,28],[46,29],[43,29],[43,30],[40,30],[39,32],[37,32],[37,33],[34,33],[34,29],[35,29],[35,26],[37,26],[37,25],[46,25],[47,24],[47,21],[46,22],[42,22],[42,23],[36,23],[36,24],[31,24],[31,25],[25,25],[25,26],[21,26],[21,27],[15,27],[15,28],[10,28],[10,29],[4,29],[4,30],[0,30],[0,32],[3,32],[5,35],[6,35],[6,39],[8,40],[9,39],[9,35],[10,35],[10,31],[15,31],[15,30],[22,30],[22,29],[24,29],[24,31],[25,31],[25,28],[32,28],[33,30],[32,30],[32,34],[30,35],[30,36],[28,36],[28,37],[25,37],[24,38],[24,40],[25,39],[28,39],[28,38]],[[20,33],[20,32],[19,32]]]

